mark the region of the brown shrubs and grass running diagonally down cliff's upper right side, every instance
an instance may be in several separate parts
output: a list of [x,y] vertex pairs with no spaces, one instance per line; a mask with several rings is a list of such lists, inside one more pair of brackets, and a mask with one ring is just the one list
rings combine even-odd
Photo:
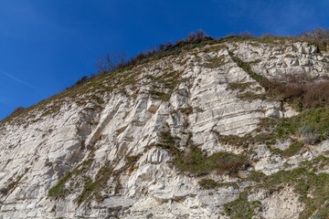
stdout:
[[[252,92],[245,92],[239,95],[241,99],[254,100],[254,99],[266,99],[266,100],[279,100],[282,99],[281,95],[288,95],[289,92],[293,93],[292,90],[288,90],[282,87],[280,82],[271,82],[267,78],[263,78],[260,75],[256,74],[251,70],[250,65],[252,63],[258,62],[258,60],[254,62],[243,62],[239,57],[234,57],[232,53],[230,53],[232,59],[238,64],[240,68],[243,68],[251,78],[254,78],[256,81],[260,83],[262,87],[266,89],[266,93],[264,94],[255,94]],[[283,83],[283,82],[281,82]],[[277,90],[275,87],[281,86],[282,91]],[[302,85],[301,85],[302,86]],[[231,84],[228,85],[228,89],[245,89],[246,85],[244,84]],[[286,92],[286,94],[281,94],[280,92]],[[288,93],[287,93],[288,92]],[[284,99],[283,99],[284,100]],[[307,144],[316,144],[320,141],[324,141],[328,139],[329,136],[329,110],[325,107],[313,107],[309,109],[302,109],[301,100],[293,97],[285,100],[290,100],[292,106],[301,111],[301,114],[292,118],[284,118],[284,119],[264,119],[260,122],[260,128],[267,128],[270,132],[273,133],[274,138],[278,139],[288,139],[288,138],[298,138],[302,137],[304,143]],[[227,141],[229,137],[221,138],[221,141]],[[236,144],[240,144],[240,139],[238,137],[230,137],[232,141],[235,141]],[[249,141],[249,139],[244,138],[245,141]],[[298,151],[301,148],[299,145],[292,145],[288,151],[284,151],[283,154],[293,154],[293,151]]]

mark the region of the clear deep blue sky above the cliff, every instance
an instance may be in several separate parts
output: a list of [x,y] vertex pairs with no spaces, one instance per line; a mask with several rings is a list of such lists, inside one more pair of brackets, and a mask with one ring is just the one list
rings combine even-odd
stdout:
[[0,120],[96,72],[96,57],[203,29],[297,35],[329,27],[329,1],[0,0]]

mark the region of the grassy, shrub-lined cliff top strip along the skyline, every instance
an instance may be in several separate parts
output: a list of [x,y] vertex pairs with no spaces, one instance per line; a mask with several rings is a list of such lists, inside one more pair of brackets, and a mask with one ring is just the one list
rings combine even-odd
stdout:
[[[324,30],[325,29],[318,29],[318,31]],[[75,85],[50,97],[49,99],[41,100],[27,109],[19,110],[17,113],[11,114],[4,120],[1,120],[0,124],[4,124],[5,122],[15,118],[21,118],[22,116],[27,119],[27,113],[31,110],[43,111],[44,116],[54,113],[60,109],[63,101],[69,99],[70,101],[75,101],[77,104],[85,104],[86,99],[84,98],[84,100],[81,100],[80,97],[85,96],[87,93],[94,93],[90,96],[90,98],[94,98],[96,101],[101,102],[101,99],[98,98],[97,95],[113,90],[116,90],[116,92],[124,92],[126,86],[134,84],[137,80],[140,80],[141,78],[137,79],[136,77],[139,73],[141,73],[140,69],[144,66],[152,65],[154,61],[164,57],[184,57],[187,52],[192,50],[195,52],[208,52],[210,47],[211,49],[216,50],[221,47],[227,47],[226,45],[228,44],[240,44],[243,42],[248,42],[249,44],[254,44],[255,46],[259,45],[260,47],[268,47],[269,45],[271,45],[271,47],[288,47],[295,42],[307,42],[309,45],[314,45],[316,47],[315,52],[323,52],[325,54],[328,48],[326,44],[327,41],[324,40],[324,38],[327,38],[328,36],[324,35],[327,34],[327,31],[324,31],[321,35],[322,37],[320,38],[319,36],[317,38],[314,37],[314,33],[321,35],[314,30],[313,32],[306,32],[302,36],[265,35],[254,37],[249,34],[241,34],[239,36],[232,35],[217,39],[211,36],[206,36],[202,31],[197,32],[196,34],[192,32],[192,34],[187,36],[186,39],[178,40],[174,45],[169,42],[165,45],[160,45],[156,49],[146,50],[145,52],[137,54],[136,57],[133,57],[131,60],[120,63],[120,65],[115,66],[115,68],[112,66],[110,67],[112,63],[105,63],[104,60],[101,60],[102,63],[98,63],[98,66],[102,66],[102,68],[99,69],[99,74],[97,76],[92,75],[90,78],[83,77],[78,80]],[[115,62],[116,60],[112,61]],[[116,82],[114,83],[113,81]],[[33,116],[34,115],[32,115],[32,117]]]

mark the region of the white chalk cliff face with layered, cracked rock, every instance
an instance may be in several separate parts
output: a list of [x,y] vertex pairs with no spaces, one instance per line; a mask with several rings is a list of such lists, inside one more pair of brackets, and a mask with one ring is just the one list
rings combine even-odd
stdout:
[[[323,141],[284,157],[265,143],[220,141],[298,114],[280,99],[253,98],[265,89],[234,58],[266,78],[328,75],[329,57],[312,45],[250,40],[196,47],[66,90],[0,123],[0,218],[229,218],[252,172],[293,170],[328,151]],[[249,162],[234,174],[188,171],[194,149]],[[298,218],[305,207],[292,185],[245,202],[260,205],[253,218]]]

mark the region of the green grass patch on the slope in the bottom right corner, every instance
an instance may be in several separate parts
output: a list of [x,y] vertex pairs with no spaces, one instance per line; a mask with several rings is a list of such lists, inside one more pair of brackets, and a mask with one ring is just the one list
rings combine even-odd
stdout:
[[299,218],[309,218],[315,212],[327,218],[329,216],[329,205],[326,204],[329,200],[329,174],[313,171],[320,171],[328,164],[329,159],[322,155],[311,162],[302,162],[300,168],[292,171],[279,171],[270,176],[253,172],[248,180],[257,183],[256,188],[266,190],[290,184],[294,188],[294,193],[299,195],[299,201],[305,204]]

